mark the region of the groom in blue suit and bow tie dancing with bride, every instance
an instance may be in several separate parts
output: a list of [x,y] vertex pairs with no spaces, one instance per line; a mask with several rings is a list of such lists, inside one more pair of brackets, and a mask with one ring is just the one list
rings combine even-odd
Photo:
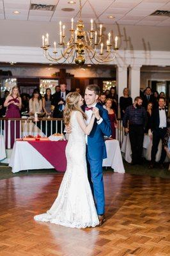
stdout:
[[[104,198],[104,180],[102,173],[102,162],[107,157],[104,135],[111,136],[111,123],[107,110],[97,103],[100,88],[96,84],[91,84],[86,87],[84,100],[86,105],[82,106],[82,110],[88,116],[87,124],[91,120],[93,108],[95,108],[95,123],[90,134],[86,136],[87,150],[87,164],[88,164],[88,179],[91,185],[91,190],[95,198],[97,207],[97,214],[99,225],[101,226],[105,221],[105,198]],[[69,129],[66,131],[69,133]]]

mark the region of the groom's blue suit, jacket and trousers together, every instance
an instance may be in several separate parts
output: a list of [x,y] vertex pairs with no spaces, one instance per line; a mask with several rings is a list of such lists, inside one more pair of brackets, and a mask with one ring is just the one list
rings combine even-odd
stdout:
[[[97,119],[95,119],[93,129],[88,135],[86,155],[89,164],[88,177],[95,198],[97,213],[104,214],[105,198],[102,161],[107,157],[104,135],[111,136],[112,130],[107,110],[100,103],[97,103],[96,107],[99,109],[99,114],[103,118],[103,121],[97,124]],[[85,111],[85,106],[82,109]]]

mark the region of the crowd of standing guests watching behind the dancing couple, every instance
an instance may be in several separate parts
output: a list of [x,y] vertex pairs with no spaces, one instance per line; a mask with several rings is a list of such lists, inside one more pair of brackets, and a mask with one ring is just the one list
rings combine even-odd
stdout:
[[[75,92],[82,94],[80,88],[75,88]],[[38,89],[35,89],[32,97],[30,97],[27,93],[19,95],[19,88],[14,86],[12,93],[6,91],[4,92],[4,98],[0,99],[0,117],[19,118],[20,115],[25,115],[26,113],[30,115],[42,113],[42,116],[50,118],[63,118],[63,110],[65,109],[65,100],[68,93],[66,84],[60,84],[60,86],[56,86],[56,92],[53,95],[50,88],[46,89],[44,97],[42,97]],[[100,93],[98,103],[108,111],[112,128],[111,137],[115,139],[116,128],[118,127],[118,95],[116,88],[111,87],[110,90]],[[164,92],[151,92],[151,88],[147,87],[144,92],[140,92],[140,96],[135,97],[133,103],[128,88],[124,88],[123,96],[120,97],[120,116],[121,120],[123,120],[125,134],[129,134],[132,164],[143,163],[144,134],[149,134],[153,141],[149,168],[155,167],[155,157],[160,140],[162,140],[162,152],[159,164],[160,168],[164,167],[166,154],[169,154],[168,113],[169,106]],[[13,129],[14,127],[11,126],[11,132]]]

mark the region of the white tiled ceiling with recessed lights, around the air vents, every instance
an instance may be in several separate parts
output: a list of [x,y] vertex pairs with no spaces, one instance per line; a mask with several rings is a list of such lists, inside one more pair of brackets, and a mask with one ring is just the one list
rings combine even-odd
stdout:
[[[68,4],[69,0],[0,0],[0,20],[30,20],[46,22],[70,22],[73,17],[79,17],[79,1]],[[55,4],[51,11],[29,10],[31,3]],[[73,8],[73,12],[63,12],[62,8]],[[13,12],[20,13],[15,15]],[[153,17],[156,10],[170,11],[170,1],[167,0],[82,0],[82,19],[97,23],[140,26],[170,26],[170,17]],[[108,19],[108,16],[114,19]]]

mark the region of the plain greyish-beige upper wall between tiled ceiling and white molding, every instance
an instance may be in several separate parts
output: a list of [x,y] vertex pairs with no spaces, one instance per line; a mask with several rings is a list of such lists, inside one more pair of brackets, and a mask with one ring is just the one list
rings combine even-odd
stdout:
[[[51,42],[58,39],[58,28],[58,22],[0,20],[0,45],[40,47],[44,33],[49,32]],[[66,28],[70,28],[70,24],[66,24]],[[105,35],[109,31],[120,36],[122,50],[170,51],[168,27],[108,25]]]

